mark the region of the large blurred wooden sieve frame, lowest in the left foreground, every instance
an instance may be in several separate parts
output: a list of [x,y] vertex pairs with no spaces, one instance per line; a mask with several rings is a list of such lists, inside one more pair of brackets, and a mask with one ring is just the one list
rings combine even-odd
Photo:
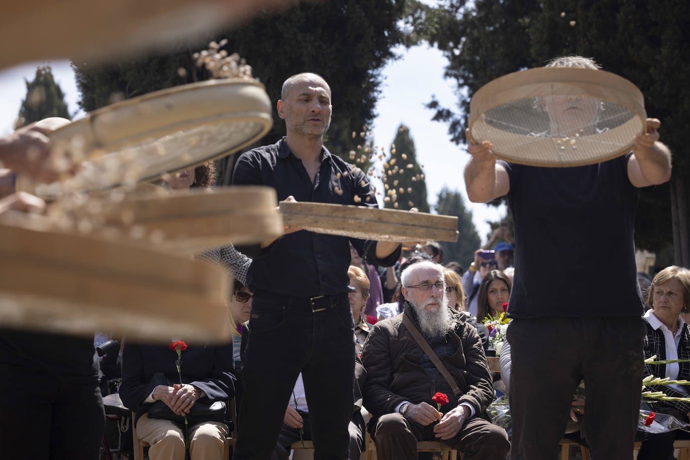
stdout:
[[146,343],[227,342],[220,267],[89,236],[0,224],[0,325]]

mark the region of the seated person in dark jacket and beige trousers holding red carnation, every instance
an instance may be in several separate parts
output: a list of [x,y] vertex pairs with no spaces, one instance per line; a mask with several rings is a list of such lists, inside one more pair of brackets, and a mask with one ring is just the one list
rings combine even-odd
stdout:
[[[162,401],[177,415],[189,414],[197,401],[226,401],[235,394],[233,346],[190,345],[181,352],[181,378],[175,367],[177,352],[169,346],[126,343],[122,353],[120,397],[137,413],[139,439],[150,445],[150,460],[184,460],[184,423],[149,417],[152,403]],[[161,375],[162,373],[162,375]],[[164,383],[161,383],[165,381]],[[217,459],[223,455],[228,428],[206,421],[188,426],[192,460]]]

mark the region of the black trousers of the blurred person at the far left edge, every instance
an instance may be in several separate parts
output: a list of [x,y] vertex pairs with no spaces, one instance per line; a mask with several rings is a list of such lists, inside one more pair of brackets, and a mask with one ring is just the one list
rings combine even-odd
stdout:
[[6,459],[98,460],[105,414],[97,379],[0,364],[0,452]]

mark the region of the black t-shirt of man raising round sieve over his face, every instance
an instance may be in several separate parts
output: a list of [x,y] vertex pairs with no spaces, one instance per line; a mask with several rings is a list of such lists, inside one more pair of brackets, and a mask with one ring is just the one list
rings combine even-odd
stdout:
[[631,153],[573,168],[499,161],[515,223],[512,318],[640,316]]

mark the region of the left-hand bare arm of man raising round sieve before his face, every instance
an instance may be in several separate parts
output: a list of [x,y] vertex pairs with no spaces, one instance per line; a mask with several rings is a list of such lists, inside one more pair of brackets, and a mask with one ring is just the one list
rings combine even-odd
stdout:
[[467,198],[473,203],[486,203],[508,193],[510,181],[506,170],[496,164],[490,142],[473,143],[467,132],[467,152],[472,158],[465,166]]

